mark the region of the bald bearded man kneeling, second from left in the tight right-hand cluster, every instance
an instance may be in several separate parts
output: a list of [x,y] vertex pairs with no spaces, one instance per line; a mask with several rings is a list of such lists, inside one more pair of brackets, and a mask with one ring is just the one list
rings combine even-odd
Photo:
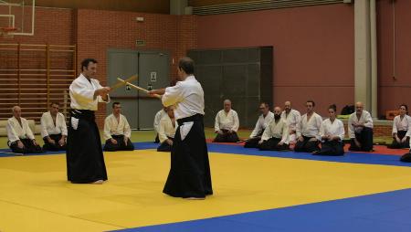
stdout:
[[281,109],[274,108],[274,119],[269,122],[261,136],[259,150],[280,151],[289,149],[289,127],[287,122],[281,119]]

